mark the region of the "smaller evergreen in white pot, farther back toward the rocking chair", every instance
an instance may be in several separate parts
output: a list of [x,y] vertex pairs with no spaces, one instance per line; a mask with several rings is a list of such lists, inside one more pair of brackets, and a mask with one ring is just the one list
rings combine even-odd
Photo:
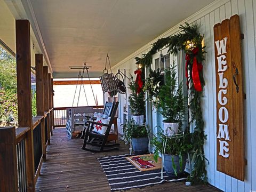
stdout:
[[143,125],[145,123],[145,101],[144,92],[141,90],[138,93],[138,84],[135,81],[131,81],[129,84],[130,89],[130,108],[132,113],[132,118],[137,125]]

